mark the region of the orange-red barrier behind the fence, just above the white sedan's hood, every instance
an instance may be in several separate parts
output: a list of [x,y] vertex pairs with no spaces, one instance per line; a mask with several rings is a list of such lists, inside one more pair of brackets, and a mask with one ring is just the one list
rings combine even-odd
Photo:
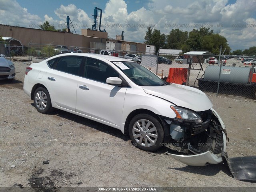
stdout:
[[188,69],[186,68],[170,68],[167,82],[181,84],[187,80]]

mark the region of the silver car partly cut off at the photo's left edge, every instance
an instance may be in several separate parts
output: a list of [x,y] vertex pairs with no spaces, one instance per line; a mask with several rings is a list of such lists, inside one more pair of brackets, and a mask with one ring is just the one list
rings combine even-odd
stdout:
[[4,55],[0,54],[0,80],[12,80],[15,78],[15,66],[10,60],[4,57]]

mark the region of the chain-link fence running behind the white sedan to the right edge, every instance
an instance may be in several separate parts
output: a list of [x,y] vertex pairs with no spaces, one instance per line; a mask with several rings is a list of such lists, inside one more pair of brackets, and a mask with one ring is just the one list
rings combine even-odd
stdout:
[[[32,57],[45,59],[60,54],[62,49],[56,49],[57,46],[61,45],[29,44],[27,52],[30,59]],[[92,54],[99,54],[101,50],[72,46],[68,46],[68,48],[69,51]],[[231,58],[231,56],[229,59],[224,59],[227,55],[177,55],[124,50],[114,50],[114,52],[118,53],[119,57],[124,57],[126,54],[139,55],[142,66],[168,82],[192,86],[203,92],[212,92],[216,95],[220,93],[255,99],[255,57],[248,57],[251,62],[242,62],[242,60]],[[210,57],[214,57],[218,61],[209,62],[208,58]]]

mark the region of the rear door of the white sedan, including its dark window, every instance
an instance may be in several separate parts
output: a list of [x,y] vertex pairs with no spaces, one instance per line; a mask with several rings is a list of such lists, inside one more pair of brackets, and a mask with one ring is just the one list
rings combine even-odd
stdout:
[[46,73],[47,88],[57,106],[75,111],[77,83],[83,74],[84,61],[81,56],[63,56]]

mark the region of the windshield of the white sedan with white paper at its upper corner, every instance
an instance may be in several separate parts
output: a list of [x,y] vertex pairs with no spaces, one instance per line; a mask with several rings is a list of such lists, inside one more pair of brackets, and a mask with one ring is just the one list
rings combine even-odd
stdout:
[[113,62],[132,82],[139,86],[163,86],[169,85],[156,74],[144,66],[135,62]]

